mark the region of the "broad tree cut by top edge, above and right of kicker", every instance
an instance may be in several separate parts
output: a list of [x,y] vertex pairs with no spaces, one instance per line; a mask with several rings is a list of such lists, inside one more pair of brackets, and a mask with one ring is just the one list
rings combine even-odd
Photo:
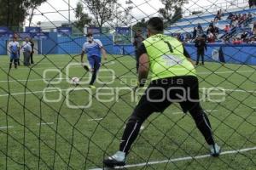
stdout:
[[114,18],[114,9],[117,0],[83,0],[89,8],[90,13],[93,14],[96,23],[102,27],[109,20]]

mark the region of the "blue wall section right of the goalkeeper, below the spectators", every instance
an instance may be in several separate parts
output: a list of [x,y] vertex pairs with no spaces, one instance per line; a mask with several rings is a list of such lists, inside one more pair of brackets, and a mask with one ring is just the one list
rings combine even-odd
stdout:
[[[196,59],[195,44],[185,44],[192,59]],[[207,44],[207,53],[205,55],[206,61],[216,61],[212,59],[213,52],[218,52],[222,48],[224,59],[226,63],[243,64],[243,65],[256,65],[256,44],[224,44],[214,43]]]

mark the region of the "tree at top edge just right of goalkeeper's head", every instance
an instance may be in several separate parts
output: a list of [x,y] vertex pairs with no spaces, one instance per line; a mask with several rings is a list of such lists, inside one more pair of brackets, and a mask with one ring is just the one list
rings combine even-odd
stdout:
[[166,23],[173,24],[182,18],[182,6],[188,3],[188,0],[160,0],[164,4],[164,8],[159,9],[160,15]]

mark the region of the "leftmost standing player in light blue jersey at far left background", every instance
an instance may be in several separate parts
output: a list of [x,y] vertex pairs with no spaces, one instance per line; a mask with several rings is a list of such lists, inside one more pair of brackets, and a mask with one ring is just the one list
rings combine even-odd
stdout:
[[17,37],[13,37],[13,40],[8,44],[10,60],[9,60],[9,69],[12,68],[13,63],[15,64],[15,69],[18,65],[19,60],[19,51],[20,51],[20,44],[17,42]]

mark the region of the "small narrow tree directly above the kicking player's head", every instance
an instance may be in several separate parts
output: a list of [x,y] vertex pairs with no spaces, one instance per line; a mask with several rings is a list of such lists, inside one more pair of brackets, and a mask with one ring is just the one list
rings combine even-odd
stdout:
[[90,25],[91,18],[89,14],[84,13],[84,5],[83,3],[77,3],[77,8],[75,9],[75,17],[77,21],[74,22],[74,26],[76,26],[79,31],[84,31],[85,25]]

